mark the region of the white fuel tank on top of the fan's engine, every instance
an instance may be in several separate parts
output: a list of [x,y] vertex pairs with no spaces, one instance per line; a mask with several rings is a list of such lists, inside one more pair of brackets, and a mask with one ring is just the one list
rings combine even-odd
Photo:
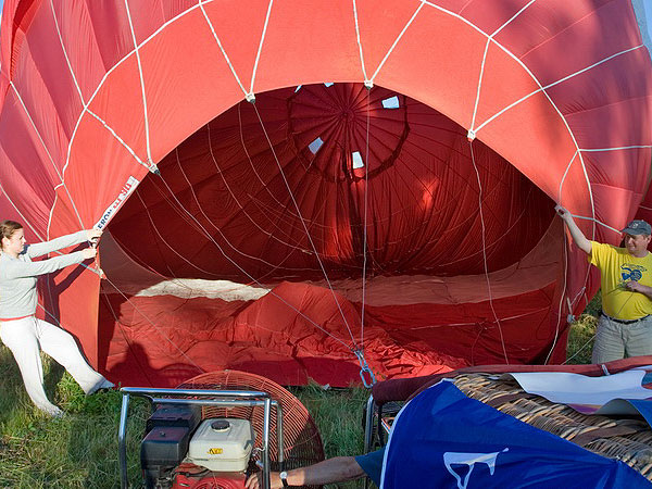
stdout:
[[247,469],[254,439],[247,419],[204,419],[190,440],[187,461],[213,472],[242,472]]

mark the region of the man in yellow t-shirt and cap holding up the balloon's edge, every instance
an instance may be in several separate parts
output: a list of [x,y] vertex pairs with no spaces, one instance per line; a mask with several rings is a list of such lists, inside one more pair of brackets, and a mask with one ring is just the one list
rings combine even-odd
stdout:
[[602,314],[598,321],[593,363],[652,354],[652,227],[632,221],[623,229],[625,248],[589,241],[570,213],[557,205],[577,247],[600,269]]

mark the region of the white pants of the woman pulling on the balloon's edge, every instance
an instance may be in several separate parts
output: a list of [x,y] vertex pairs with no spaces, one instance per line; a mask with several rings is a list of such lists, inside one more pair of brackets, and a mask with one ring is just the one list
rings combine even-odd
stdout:
[[95,391],[104,381],[104,377],[86,363],[73,337],[46,321],[30,316],[2,322],[0,338],[18,364],[29,398],[37,408],[50,414],[61,411],[46,396],[39,347],[65,367],[84,392]]

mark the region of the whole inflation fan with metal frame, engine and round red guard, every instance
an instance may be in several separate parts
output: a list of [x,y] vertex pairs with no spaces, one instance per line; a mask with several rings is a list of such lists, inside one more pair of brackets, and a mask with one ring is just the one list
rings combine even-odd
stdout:
[[271,472],[324,460],[322,438],[305,406],[287,389],[256,374],[209,372],[174,389],[122,387],[121,392],[122,489],[130,487],[131,398],[147,399],[151,409],[140,443],[147,488],[243,489],[247,474],[258,471],[262,487],[268,488]]

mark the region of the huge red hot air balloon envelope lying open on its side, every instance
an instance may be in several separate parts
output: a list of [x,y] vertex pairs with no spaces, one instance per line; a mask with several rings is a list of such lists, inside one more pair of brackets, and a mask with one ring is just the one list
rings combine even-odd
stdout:
[[554,203],[615,243],[649,187],[635,3],[7,0],[2,217],[106,230],[39,314],[125,385],[562,362]]

